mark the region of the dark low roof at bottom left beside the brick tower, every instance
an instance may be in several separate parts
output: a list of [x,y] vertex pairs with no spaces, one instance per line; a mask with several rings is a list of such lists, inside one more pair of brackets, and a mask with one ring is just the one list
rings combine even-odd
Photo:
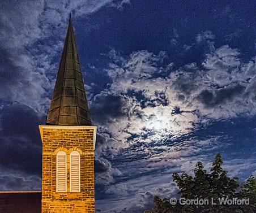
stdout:
[[41,192],[0,192],[1,213],[41,213]]

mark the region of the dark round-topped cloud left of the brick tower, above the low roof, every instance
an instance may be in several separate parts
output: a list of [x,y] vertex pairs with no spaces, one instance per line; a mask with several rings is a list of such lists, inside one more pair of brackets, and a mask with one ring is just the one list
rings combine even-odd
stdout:
[[20,103],[3,106],[0,118],[0,190],[40,190],[41,138],[38,125],[44,122],[43,118]]

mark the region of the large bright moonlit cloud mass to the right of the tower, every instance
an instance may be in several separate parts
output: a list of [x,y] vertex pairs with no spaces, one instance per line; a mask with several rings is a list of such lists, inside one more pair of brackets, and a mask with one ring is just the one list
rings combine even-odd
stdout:
[[[201,66],[190,63],[173,70],[164,65],[164,52],[143,50],[125,57],[110,51],[112,62],[105,71],[112,82],[91,102],[100,129],[96,153],[103,158],[102,174],[107,177],[99,180],[110,184],[108,193],[114,193],[115,180],[133,179],[136,172],[152,175],[163,168],[193,173],[191,166],[199,159],[211,162],[207,153],[229,146],[225,138],[189,135],[204,124],[255,115],[255,60],[244,62],[239,56],[237,49],[225,45],[207,54]],[[129,162],[129,172],[113,163],[117,159]],[[130,191],[120,185],[117,193]]]

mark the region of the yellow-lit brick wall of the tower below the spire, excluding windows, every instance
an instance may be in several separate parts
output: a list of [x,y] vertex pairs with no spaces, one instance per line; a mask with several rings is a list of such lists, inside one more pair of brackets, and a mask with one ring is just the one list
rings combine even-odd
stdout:
[[[42,213],[95,212],[93,131],[89,127],[40,126],[42,138]],[[58,128],[59,127],[59,128]],[[56,192],[56,157],[58,151],[67,154],[67,173],[70,153],[80,153],[80,192]]]

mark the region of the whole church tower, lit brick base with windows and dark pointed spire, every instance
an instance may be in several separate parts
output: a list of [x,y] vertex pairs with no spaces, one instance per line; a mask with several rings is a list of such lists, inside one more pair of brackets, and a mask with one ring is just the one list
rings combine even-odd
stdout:
[[95,212],[96,127],[86,92],[71,19],[42,139],[42,213]]

